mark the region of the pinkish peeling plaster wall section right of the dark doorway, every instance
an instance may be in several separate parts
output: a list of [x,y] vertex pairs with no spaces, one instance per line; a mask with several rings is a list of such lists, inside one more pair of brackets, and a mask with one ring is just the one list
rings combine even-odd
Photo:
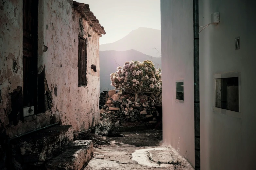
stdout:
[[[95,126],[99,120],[99,36],[68,1],[40,0],[38,17],[38,70],[45,67],[52,114],[76,132]],[[88,38],[86,87],[78,87],[78,35]]]

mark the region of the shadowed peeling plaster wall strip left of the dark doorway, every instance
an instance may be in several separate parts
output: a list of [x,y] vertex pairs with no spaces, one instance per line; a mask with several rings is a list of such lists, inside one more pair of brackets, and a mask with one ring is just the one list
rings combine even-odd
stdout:
[[[22,1],[2,1],[0,4],[0,131],[13,124],[11,96],[22,93]],[[22,101],[20,101],[22,104]],[[16,113],[18,114],[18,113]],[[19,115],[17,115],[19,117]],[[15,120],[16,121],[16,120]],[[17,124],[17,122],[15,122]]]

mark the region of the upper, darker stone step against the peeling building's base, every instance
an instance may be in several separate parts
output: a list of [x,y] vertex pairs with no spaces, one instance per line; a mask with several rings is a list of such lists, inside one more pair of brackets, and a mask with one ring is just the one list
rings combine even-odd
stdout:
[[18,138],[11,142],[13,169],[27,169],[29,164],[40,166],[72,141],[71,125],[53,126]]

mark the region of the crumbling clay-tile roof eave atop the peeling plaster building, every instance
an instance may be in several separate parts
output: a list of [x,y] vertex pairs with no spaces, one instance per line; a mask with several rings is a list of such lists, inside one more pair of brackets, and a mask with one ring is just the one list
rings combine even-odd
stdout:
[[90,27],[93,28],[95,33],[99,36],[106,34],[104,27],[100,25],[99,20],[97,20],[93,12],[90,11],[88,4],[73,1],[73,5],[75,10],[81,14],[81,17],[83,17],[85,21],[89,22]]

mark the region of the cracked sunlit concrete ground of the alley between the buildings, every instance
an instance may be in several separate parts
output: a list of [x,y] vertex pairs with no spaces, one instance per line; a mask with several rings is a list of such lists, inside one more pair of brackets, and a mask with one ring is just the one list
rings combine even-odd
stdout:
[[[123,137],[106,137],[110,145],[94,148],[94,158],[83,170],[192,170],[186,159],[181,165],[169,164],[177,151],[162,147],[162,132],[134,128],[122,132]],[[162,162],[161,164],[159,164]]]

